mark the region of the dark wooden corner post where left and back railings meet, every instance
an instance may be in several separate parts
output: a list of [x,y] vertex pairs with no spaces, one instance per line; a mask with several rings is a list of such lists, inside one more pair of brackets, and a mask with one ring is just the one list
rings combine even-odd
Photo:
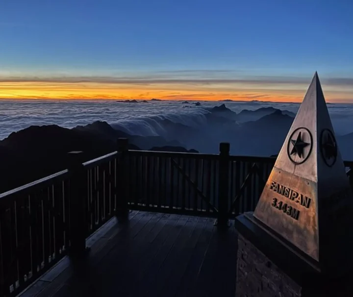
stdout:
[[127,186],[129,183],[128,174],[128,139],[119,138],[117,140],[118,168],[117,168],[117,209],[116,217],[120,222],[128,220],[128,192]]

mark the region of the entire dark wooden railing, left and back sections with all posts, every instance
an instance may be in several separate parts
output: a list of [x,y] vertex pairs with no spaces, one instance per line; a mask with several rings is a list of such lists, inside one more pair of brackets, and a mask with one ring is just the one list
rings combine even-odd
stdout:
[[[254,210],[275,158],[128,150],[82,163],[0,195],[0,296],[15,296],[128,208],[228,219]],[[345,162],[353,167],[353,162]],[[348,174],[352,175],[350,171]]]

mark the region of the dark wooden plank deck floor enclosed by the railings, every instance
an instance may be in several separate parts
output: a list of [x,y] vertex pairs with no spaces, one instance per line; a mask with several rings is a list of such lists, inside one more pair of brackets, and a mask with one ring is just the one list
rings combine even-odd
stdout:
[[88,240],[86,258],[64,258],[21,297],[233,297],[237,234],[213,222],[132,211]]

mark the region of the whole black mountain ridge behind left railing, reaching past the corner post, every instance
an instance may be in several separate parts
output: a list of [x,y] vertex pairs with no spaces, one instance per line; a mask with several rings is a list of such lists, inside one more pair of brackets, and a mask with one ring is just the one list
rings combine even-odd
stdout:
[[0,193],[66,169],[69,151],[83,151],[83,161],[115,151],[119,137],[129,139],[129,149],[140,149],[133,143],[140,141],[147,143],[144,146],[151,145],[149,148],[187,151],[177,141],[169,142],[160,136],[129,135],[114,130],[106,122],[73,129],[57,125],[30,126],[0,141]]

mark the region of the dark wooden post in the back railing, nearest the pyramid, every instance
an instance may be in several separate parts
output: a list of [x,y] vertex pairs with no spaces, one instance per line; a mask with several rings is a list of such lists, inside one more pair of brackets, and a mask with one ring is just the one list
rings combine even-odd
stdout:
[[227,228],[228,224],[228,190],[229,190],[229,150],[230,144],[220,143],[220,161],[218,177],[218,217],[216,225],[219,228]]

